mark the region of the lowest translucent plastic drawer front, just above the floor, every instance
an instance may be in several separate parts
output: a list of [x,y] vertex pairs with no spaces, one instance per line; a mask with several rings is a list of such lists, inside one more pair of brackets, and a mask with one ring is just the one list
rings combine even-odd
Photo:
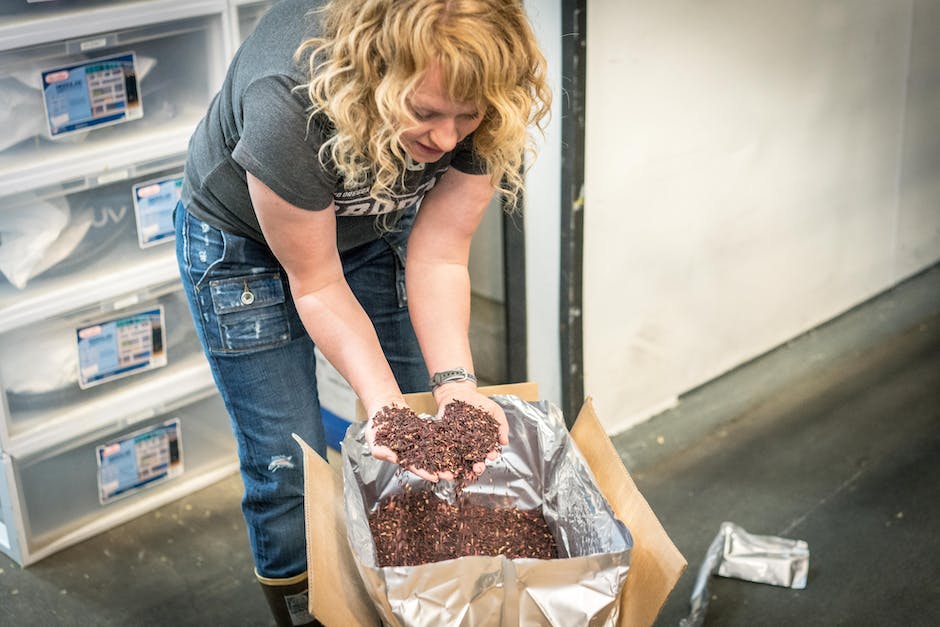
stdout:
[[[172,426],[166,428],[168,423]],[[173,472],[158,474],[150,484],[131,479],[129,486],[142,485],[126,495],[102,488],[108,481],[99,477],[99,447],[132,442],[128,436],[143,439],[166,432],[178,434],[178,440],[153,448],[162,454],[172,451]],[[135,446],[131,444],[131,449]],[[12,535],[15,529],[19,535],[21,550],[12,557],[24,564],[203,488],[237,469],[228,414],[214,392],[143,422],[95,433],[30,458],[9,456],[8,460],[14,477],[8,484],[16,491],[14,509],[20,517],[8,523],[8,532]],[[146,470],[149,463],[138,461],[137,468]],[[107,498],[103,499],[103,494]]]

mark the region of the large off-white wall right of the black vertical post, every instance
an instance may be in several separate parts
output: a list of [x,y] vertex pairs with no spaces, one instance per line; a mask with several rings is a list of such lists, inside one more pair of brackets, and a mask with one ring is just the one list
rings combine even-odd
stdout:
[[609,431],[940,257],[940,28],[914,5],[588,2],[585,391]]

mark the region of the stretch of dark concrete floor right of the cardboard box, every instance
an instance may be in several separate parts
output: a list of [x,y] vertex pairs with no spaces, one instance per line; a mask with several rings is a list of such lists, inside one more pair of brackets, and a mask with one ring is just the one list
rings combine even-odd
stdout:
[[689,562],[657,625],[688,614],[726,520],[805,540],[809,579],[714,577],[705,625],[940,625],[940,269],[615,444]]

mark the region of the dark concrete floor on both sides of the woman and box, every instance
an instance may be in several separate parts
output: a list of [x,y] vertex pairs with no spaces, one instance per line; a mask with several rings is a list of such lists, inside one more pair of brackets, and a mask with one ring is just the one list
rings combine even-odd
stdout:
[[[805,590],[714,578],[706,625],[940,624],[940,268],[615,438],[689,561],[722,521],[806,540]],[[0,625],[268,625],[236,477],[21,569]]]

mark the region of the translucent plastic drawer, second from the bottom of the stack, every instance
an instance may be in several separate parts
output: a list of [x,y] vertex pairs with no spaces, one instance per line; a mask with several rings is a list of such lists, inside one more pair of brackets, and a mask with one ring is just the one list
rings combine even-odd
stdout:
[[[138,357],[137,363],[128,359],[131,367],[124,372],[119,368],[104,369],[96,378],[89,376],[86,367],[84,377],[80,376],[78,329],[119,318],[127,320],[160,307],[162,328],[158,328],[157,317],[141,323],[143,332],[152,334],[149,348],[144,346],[149,358],[141,350],[144,356]],[[114,333],[113,337],[123,336]],[[122,356],[133,357],[129,349],[121,351]],[[39,443],[72,437],[94,428],[96,422],[106,423],[131,410],[147,411],[174,396],[191,393],[192,389],[184,389],[186,385],[211,384],[206,376],[208,364],[178,281],[104,303],[92,311],[37,321],[0,334],[0,354],[6,407],[2,448],[8,452],[18,450],[17,438],[25,434],[32,432]],[[108,372],[115,376],[104,376]],[[201,379],[195,376],[200,373]]]

